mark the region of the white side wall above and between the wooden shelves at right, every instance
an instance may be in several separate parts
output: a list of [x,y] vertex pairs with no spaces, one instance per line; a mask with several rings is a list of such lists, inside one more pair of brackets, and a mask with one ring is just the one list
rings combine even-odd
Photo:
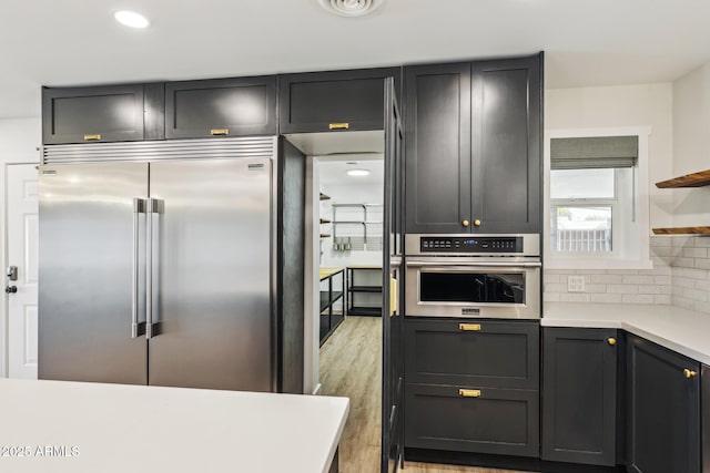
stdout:
[[[673,82],[672,176],[710,168],[710,62]],[[710,188],[666,191],[673,225],[710,225]]]

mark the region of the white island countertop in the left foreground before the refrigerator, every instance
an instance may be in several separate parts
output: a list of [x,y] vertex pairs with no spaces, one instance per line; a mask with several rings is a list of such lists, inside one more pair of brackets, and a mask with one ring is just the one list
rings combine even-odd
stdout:
[[327,472],[348,405],[321,395],[0,379],[0,471]]

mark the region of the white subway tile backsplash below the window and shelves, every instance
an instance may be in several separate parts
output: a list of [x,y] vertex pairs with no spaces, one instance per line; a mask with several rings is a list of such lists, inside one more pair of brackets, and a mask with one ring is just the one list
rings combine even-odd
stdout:
[[[544,300],[673,305],[710,312],[710,238],[652,236],[653,269],[546,269]],[[585,278],[568,292],[569,276]]]

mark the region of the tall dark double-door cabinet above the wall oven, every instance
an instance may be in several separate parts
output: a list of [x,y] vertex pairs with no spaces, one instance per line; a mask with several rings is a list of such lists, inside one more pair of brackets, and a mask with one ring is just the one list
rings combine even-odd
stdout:
[[541,54],[405,78],[407,232],[539,233]]

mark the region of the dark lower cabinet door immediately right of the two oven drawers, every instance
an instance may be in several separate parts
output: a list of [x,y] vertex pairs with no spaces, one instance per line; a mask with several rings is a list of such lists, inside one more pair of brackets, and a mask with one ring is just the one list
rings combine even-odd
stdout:
[[542,330],[542,460],[613,466],[615,329]]

